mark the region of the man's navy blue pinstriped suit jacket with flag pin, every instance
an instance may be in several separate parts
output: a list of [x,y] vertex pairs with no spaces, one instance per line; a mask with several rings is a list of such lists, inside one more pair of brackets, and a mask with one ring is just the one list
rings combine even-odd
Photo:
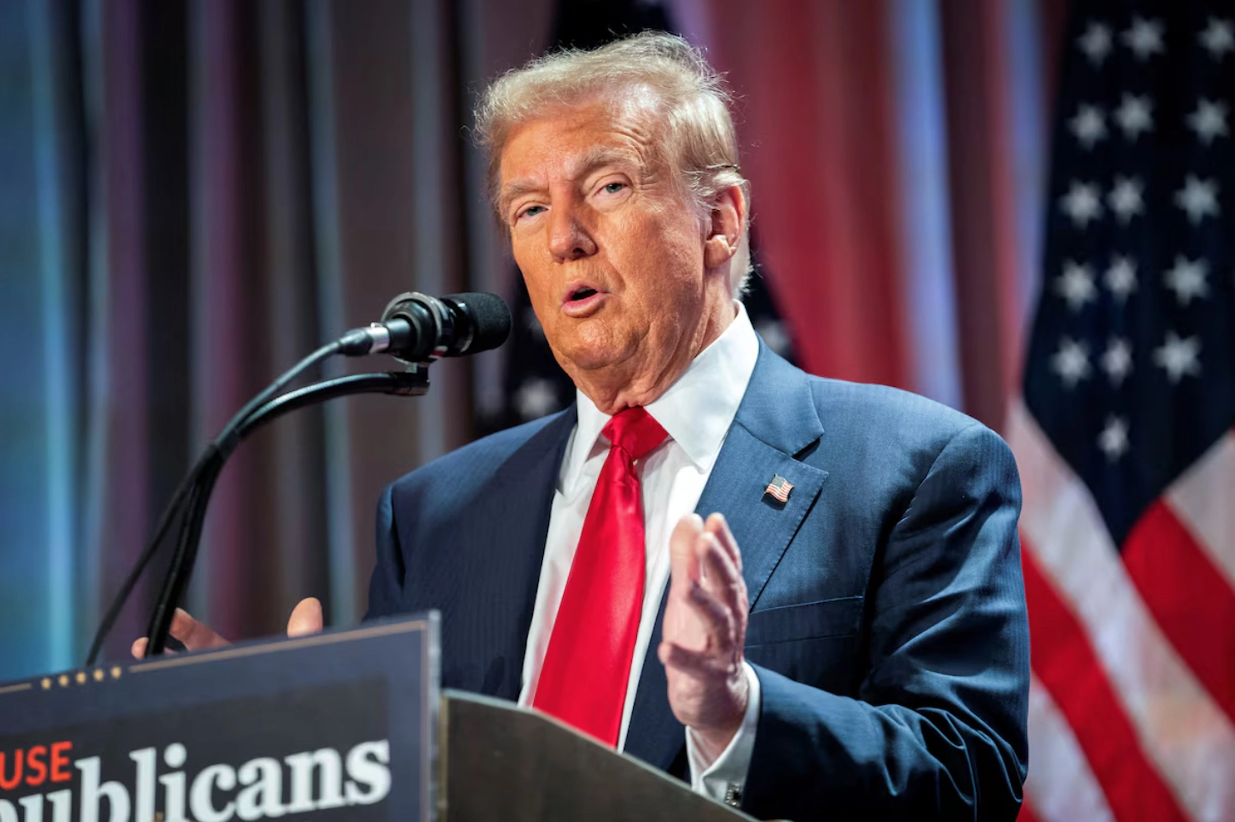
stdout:
[[[382,497],[369,615],[441,610],[446,687],[519,696],[574,422],[572,407],[487,437]],[[763,494],[774,474],[794,486],[783,505]],[[809,376],[761,344],[698,506],[729,520],[750,591],[746,658],[762,687],[750,813],[1015,818],[1029,697],[1019,510],[1011,453],[981,423]],[[659,636],[658,618],[626,752],[680,775]]]

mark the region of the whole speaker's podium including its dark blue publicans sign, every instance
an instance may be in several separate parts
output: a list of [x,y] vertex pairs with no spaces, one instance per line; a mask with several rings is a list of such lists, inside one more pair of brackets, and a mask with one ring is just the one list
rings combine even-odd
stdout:
[[750,817],[509,702],[437,615],[0,685],[0,822]]

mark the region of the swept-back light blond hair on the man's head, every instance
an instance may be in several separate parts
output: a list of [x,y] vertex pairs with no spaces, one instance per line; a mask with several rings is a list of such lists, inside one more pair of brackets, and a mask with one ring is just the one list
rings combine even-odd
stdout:
[[[493,81],[475,110],[477,138],[489,154],[493,202],[500,185],[501,152],[515,127],[542,115],[546,107],[642,90],[652,93],[664,118],[661,159],[677,170],[700,216],[711,212],[718,194],[735,185],[746,197],[748,215],[751,184],[737,165],[732,96],[699,49],[663,32],[634,35],[593,51],[555,52]],[[730,264],[734,296],[745,291],[750,268],[750,218],[743,216]]]

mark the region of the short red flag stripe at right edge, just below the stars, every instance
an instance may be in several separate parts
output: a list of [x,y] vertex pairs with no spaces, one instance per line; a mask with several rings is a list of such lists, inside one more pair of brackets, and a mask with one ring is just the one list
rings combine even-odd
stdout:
[[1235,590],[1162,500],[1137,520],[1123,554],[1162,633],[1235,720]]

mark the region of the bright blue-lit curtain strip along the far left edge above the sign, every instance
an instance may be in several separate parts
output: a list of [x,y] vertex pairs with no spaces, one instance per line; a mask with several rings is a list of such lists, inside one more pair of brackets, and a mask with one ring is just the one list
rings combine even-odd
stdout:
[[0,6],[0,675],[73,663],[85,560],[80,85],[57,25]]

